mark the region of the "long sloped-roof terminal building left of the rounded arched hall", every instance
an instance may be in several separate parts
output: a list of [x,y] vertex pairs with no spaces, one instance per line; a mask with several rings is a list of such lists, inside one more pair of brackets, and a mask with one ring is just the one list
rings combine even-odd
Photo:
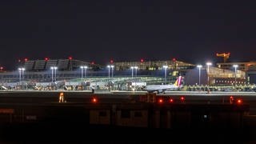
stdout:
[[[86,66],[86,69],[81,66]],[[87,78],[164,77],[165,70],[162,66],[167,66],[166,73],[169,78],[170,76],[177,77],[178,74],[184,75],[186,70],[194,67],[193,64],[180,61],[114,62],[110,63],[110,66],[113,67],[100,66],[76,59],[29,60],[18,66],[24,70],[6,71],[0,75],[2,82],[18,82],[20,78],[26,81],[51,82],[53,77],[56,77],[57,80],[69,80],[82,78],[82,73],[83,78],[85,76]],[[56,67],[56,70],[52,70],[52,67]],[[136,67],[136,70],[132,70],[132,67]]]

